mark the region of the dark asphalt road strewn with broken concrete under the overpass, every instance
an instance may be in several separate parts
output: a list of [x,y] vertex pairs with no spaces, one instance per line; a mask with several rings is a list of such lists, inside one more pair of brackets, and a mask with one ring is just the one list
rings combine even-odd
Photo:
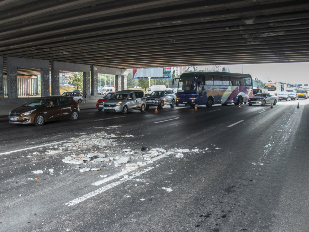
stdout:
[[[0,118],[0,231],[307,232],[308,104],[83,110],[42,127]],[[144,159],[142,146],[162,155]],[[62,161],[89,153],[113,159]],[[122,156],[140,168],[116,167]]]

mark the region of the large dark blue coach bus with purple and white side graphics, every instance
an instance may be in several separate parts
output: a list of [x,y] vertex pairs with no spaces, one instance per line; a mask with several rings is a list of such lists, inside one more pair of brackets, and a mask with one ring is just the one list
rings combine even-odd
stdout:
[[178,92],[176,104],[239,105],[247,103],[252,97],[252,77],[249,74],[228,72],[187,72],[182,73],[178,79]]

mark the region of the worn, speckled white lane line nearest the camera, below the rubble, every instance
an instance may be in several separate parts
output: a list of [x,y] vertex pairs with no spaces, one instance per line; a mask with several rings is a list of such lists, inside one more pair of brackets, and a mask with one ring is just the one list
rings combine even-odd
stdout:
[[100,193],[102,193],[102,192],[105,192],[106,190],[108,190],[108,189],[110,189],[110,188],[116,187],[117,185],[120,185],[120,184],[122,184],[122,183],[124,183],[124,182],[126,182],[126,181],[128,181],[128,180],[130,180],[130,179],[133,179],[134,177],[137,177],[137,176],[139,176],[139,175],[141,175],[141,174],[143,174],[143,173],[145,173],[145,172],[148,172],[148,171],[150,171],[150,170],[153,169],[153,168],[154,168],[154,167],[148,167],[148,168],[145,168],[145,169],[143,169],[143,170],[139,170],[139,171],[133,173],[133,174],[132,174],[131,176],[129,176],[128,178],[121,178],[121,179],[118,180],[118,181],[109,183],[109,184],[107,184],[107,185],[105,185],[105,186],[103,186],[103,187],[101,187],[101,188],[99,188],[99,189],[97,189],[97,190],[95,190],[95,191],[89,192],[89,193],[87,193],[87,194],[85,194],[85,195],[83,195],[83,196],[81,196],[81,197],[78,197],[78,198],[76,198],[76,199],[74,199],[74,200],[69,201],[69,202],[67,202],[65,205],[67,205],[67,206],[73,206],[73,205],[76,205],[76,204],[78,204],[78,203],[81,203],[81,202],[84,201],[84,200],[87,200],[87,199],[89,199],[89,198],[91,198],[91,197],[93,197],[93,196],[96,196],[96,195],[98,195],[98,194],[100,194]]

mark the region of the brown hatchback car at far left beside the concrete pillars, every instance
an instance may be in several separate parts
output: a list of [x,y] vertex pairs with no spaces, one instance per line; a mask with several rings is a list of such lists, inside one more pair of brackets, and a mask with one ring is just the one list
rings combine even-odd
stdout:
[[27,102],[9,114],[9,122],[17,124],[35,124],[42,126],[45,122],[79,117],[79,106],[72,97],[47,96],[38,97]]

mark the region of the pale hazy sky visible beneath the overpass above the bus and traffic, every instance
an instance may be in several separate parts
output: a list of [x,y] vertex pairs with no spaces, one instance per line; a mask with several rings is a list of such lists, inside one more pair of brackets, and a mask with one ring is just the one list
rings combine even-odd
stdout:
[[[196,66],[200,67],[200,66]],[[211,67],[211,66],[203,66]],[[252,79],[263,82],[283,82],[288,84],[309,84],[309,63],[275,63],[275,64],[244,64],[222,65],[230,72],[250,74]]]

